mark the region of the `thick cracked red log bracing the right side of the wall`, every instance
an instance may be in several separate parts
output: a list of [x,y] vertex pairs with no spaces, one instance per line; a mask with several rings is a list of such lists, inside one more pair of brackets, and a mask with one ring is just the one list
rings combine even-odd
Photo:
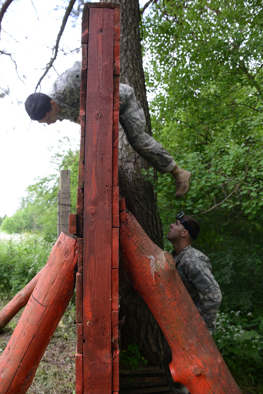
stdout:
[[189,296],[174,259],[146,235],[136,219],[120,214],[123,264],[154,314],[172,350],[175,382],[191,394],[241,394]]

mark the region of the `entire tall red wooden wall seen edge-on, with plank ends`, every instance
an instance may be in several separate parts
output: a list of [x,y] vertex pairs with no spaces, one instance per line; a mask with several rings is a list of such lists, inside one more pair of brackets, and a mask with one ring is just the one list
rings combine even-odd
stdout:
[[[76,394],[119,390],[120,4],[85,3],[76,220]],[[82,227],[81,227],[82,224]]]

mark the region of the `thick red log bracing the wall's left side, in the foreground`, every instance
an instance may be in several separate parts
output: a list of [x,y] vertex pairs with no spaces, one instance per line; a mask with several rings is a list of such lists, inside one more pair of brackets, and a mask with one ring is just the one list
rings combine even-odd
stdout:
[[61,232],[0,357],[0,393],[24,394],[75,288],[76,237]]

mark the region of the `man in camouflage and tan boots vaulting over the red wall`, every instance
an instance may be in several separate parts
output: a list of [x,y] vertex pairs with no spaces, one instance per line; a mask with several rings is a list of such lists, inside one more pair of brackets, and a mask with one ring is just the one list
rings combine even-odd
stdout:
[[[25,102],[26,112],[31,120],[51,125],[57,119],[69,119],[80,125],[80,83],[81,61],[59,75],[48,91],[32,93]],[[176,198],[180,198],[189,188],[191,173],[180,168],[171,154],[162,145],[147,134],[143,109],[137,101],[133,88],[120,84],[119,122],[133,149],[156,168],[161,174],[171,173],[176,182]]]

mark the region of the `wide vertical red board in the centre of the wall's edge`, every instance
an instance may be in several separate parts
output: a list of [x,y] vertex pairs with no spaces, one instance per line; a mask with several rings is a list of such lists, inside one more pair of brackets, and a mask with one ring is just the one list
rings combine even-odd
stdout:
[[111,393],[114,9],[89,10],[83,228],[84,394]]

